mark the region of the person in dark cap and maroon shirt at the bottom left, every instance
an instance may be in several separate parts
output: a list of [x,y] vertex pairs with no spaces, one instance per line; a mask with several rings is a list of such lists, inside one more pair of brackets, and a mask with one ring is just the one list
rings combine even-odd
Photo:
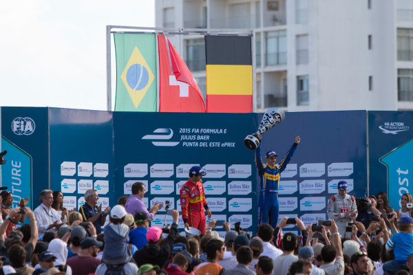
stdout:
[[100,241],[96,241],[92,237],[87,237],[81,241],[81,252],[78,256],[74,256],[67,260],[67,265],[72,268],[72,271],[76,275],[87,275],[94,273],[100,260],[96,259],[98,256],[99,248],[102,246]]

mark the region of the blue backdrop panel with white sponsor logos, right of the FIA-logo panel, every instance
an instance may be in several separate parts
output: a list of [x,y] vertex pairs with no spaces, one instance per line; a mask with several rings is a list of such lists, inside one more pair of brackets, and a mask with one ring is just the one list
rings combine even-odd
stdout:
[[89,189],[102,209],[116,205],[112,112],[50,108],[49,120],[50,188],[63,192],[65,208],[79,209]]

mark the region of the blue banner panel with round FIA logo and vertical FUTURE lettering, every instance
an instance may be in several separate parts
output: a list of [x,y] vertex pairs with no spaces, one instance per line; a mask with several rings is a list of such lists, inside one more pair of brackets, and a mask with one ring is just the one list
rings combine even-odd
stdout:
[[[1,107],[1,185],[13,195],[13,207],[21,198],[39,205],[42,189],[48,188],[47,108]],[[35,186],[35,188],[34,188]]]

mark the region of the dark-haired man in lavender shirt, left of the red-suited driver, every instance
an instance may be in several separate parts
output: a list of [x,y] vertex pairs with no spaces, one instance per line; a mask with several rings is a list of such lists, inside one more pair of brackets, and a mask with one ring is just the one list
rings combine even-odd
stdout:
[[145,203],[142,199],[145,196],[145,184],[142,182],[135,182],[131,188],[132,194],[125,203],[126,212],[132,214],[135,217],[135,214],[138,212],[145,212],[148,219],[153,219],[153,216],[163,207],[162,203],[155,203],[151,210],[147,210]]

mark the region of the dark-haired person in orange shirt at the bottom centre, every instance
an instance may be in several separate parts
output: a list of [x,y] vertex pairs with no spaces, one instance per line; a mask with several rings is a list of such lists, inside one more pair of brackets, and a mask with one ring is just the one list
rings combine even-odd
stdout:
[[222,266],[218,265],[218,261],[224,259],[225,245],[223,241],[211,239],[205,247],[207,252],[207,262],[200,263],[195,267],[193,273],[195,275],[219,275],[221,274]]

